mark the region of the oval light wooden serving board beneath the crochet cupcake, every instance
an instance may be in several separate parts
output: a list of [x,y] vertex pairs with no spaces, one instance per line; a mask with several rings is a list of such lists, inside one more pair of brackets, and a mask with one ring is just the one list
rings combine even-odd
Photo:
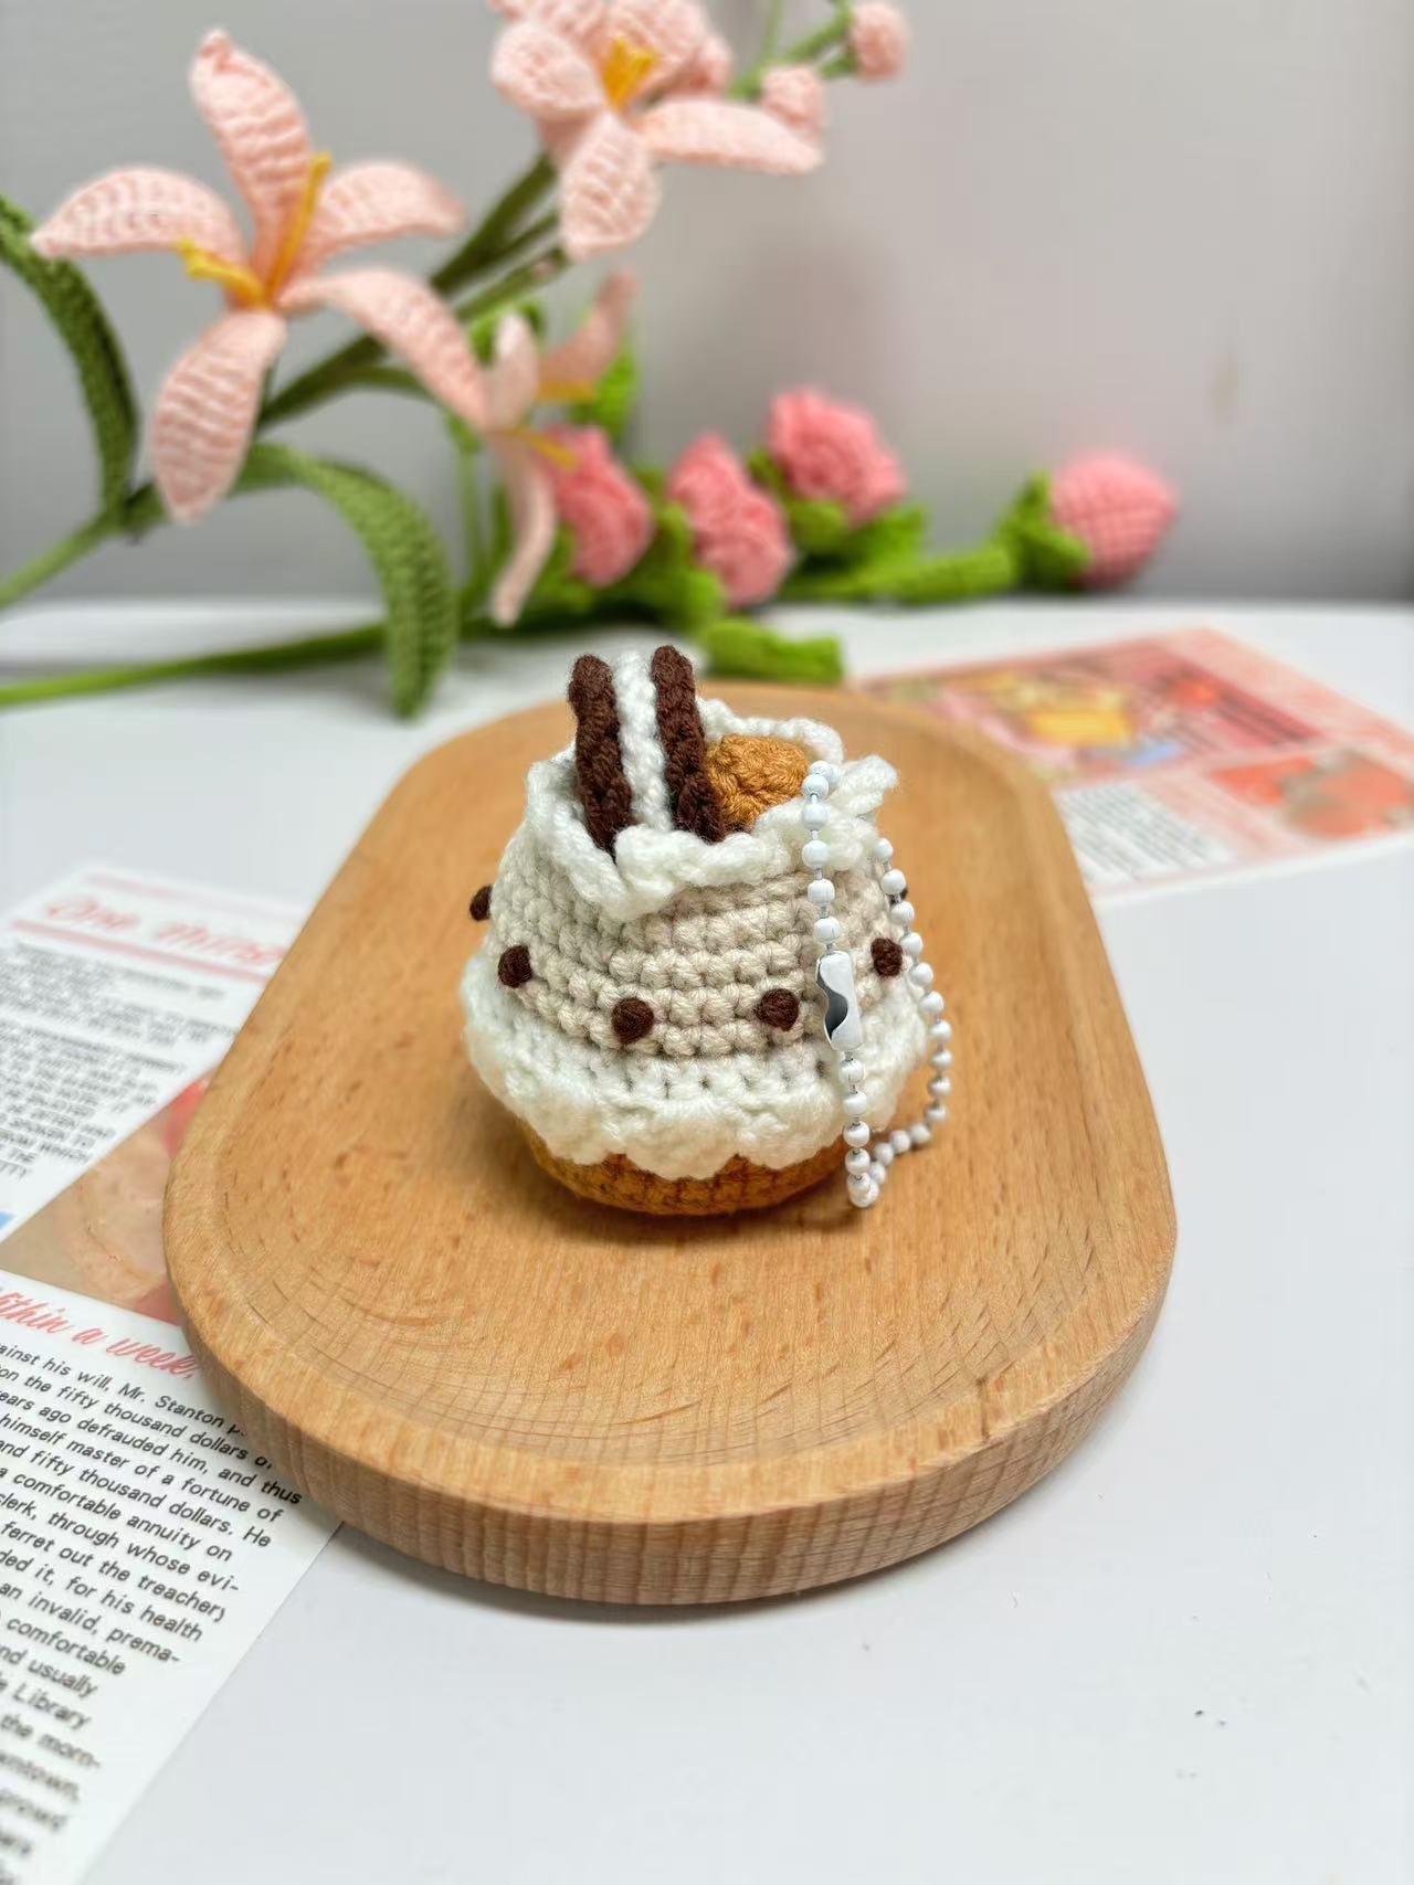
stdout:
[[255,1446],[351,1525],[496,1583],[699,1604],[926,1551],[1069,1453],[1163,1299],[1163,1148],[1046,792],[920,714],[724,692],[830,720],[903,777],[882,822],[956,1091],[875,1210],[839,1178],[737,1218],[583,1203],[471,1073],[468,897],[526,767],[569,737],[560,707],[403,779],[168,1191],[192,1346]]

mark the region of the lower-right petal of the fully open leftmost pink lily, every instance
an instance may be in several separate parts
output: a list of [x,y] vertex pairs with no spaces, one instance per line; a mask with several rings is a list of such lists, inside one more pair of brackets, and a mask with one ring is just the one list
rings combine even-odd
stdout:
[[486,418],[486,388],[456,315],[424,281],[396,268],[360,268],[292,283],[279,298],[285,313],[336,307],[383,341],[428,392],[468,426]]

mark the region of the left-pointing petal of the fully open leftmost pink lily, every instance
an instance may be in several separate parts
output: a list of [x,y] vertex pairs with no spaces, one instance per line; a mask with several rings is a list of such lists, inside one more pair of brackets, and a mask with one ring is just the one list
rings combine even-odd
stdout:
[[175,170],[109,170],[75,190],[34,232],[45,256],[136,254],[192,241],[222,262],[245,262],[245,238],[221,198]]

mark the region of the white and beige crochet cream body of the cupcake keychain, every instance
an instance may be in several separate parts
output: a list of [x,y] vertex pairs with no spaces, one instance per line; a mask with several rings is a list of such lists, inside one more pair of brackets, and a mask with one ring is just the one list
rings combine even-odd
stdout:
[[[814,990],[813,873],[799,856],[811,833],[797,801],[718,843],[671,829],[650,720],[633,697],[639,673],[618,664],[615,690],[641,822],[620,831],[613,854],[601,850],[584,826],[573,748],[532,767],[526,818],[462,980],[468,1052],[556,1157],[594,1165],[624,1154],[662,1178],[707,1178],[733,1156],[794,1165],[841,1129],[837,1061]],[[831,914],[854,958],[867,1120],[884,1129],[924,1050],[907,978],[880,978],[871,956],[871,942],[890,933],[869,865],[873,812],[896,773],[879,758],[845,762],[839,735],[814,720],[741,718],[713,699],[699,711],[709,743],[773,735],[841,767],[818,835],[831,854]],[[532,975],[507,988],[498,963],[518,944]],[[758,1018],[767,990],[797,997],[790,1029]],[[611,1022],[624,997],[654,1016],[628,1046]]]

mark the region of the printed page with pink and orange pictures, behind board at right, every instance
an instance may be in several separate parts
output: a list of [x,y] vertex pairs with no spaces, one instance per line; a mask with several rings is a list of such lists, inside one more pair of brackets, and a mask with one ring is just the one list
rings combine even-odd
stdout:
[[1414,737],[1214,630],[896,675],[1048,780],[1097,899],[1414,833]]

